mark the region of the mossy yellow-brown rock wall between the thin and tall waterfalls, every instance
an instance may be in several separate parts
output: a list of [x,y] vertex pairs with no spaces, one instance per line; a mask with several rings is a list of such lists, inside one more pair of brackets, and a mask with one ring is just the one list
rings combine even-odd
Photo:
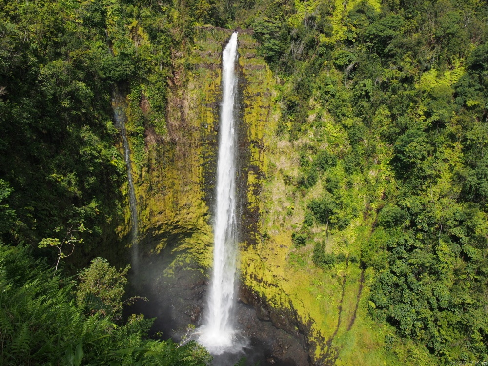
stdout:
[[176,262],[210,265],[224,41],[224,32],[198,32],[191,53],[175,55],[166,133],[145,130],[144,160],[132,172],[142,258],[166,249],[181,254]]

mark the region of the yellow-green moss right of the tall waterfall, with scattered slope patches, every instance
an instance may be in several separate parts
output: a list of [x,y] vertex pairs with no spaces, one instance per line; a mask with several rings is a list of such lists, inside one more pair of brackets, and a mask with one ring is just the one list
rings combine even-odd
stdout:
[[[350,4],[348,7],[352,6]],[[241,49],[241,54],[245,51]],[[249,52],[251,53],[251,52]],[[240,65],[246,78],[244,99],[252,98],[252,105],[245,104],[244,123],[249,125],[249,140],[261,144],[250,146],[250,160],[259,167],[264,175],[255,171],[247,174],[247,199],[250,206],[259,209],[259,235],[257,244],[241,245],[241,276],[243,284],[263,298],[276,310],[287,309],[296,314],[296,318],[309,330],[309,343],[315,360],[320,360],[327,352],[326,340],[332,338],[332,347],[338,350],[338,364],[354,362],[355,365],[373,365],[377,362],[397,360],[395,355],[384,348],[382,329],[367,317],[367,294],[369,283],[363,284],[362,294],[358,301],[361,270],[358,264],[346,263],[323,271],[314,267],[311,257],[313,244],[296,249],[291,242],[292,232],[303,221],[306,203],[322,191],[320,182],[316,189],[311,189],[305,197],[293,192],[293,186],[286,186],[284,173],[298,176],[298,149],[301,142],[290,143],[276,136],[279,106],[274,100],[275,80],[272,73],[264,68],[252,65],[265,65],[263,60],[254,57],[252,60],[240,58]],[[246,71],[248,70],[248,71]],[[247,94],[246,94],[247,93]],[[346,132],[334,124],[325,114],[325,146],[345,150]],[[380,160],[388,160],[391,152],[380,152]],[[375,195],[381,197],[384,180],[376,179],[377,175],[389,175],[380,162],[377,172],[372,172],[377,189]],[[271,167],[271,168],[270,168]],[[342,169],[342,170],[341,170]],[[344,175],[342,167],[337,167],[336,174]],[[364,182],[354,182],[358,190],[346,191],[344,194],[351,202],[362,204],[365,192]],[[260,189],[256,189],[258,187]],[[259,196],[256,195],[259,192]],[[291,214],[289,214],[291,209]],[[374,217],[365,223],[353,222],[340,236],[329,236],[327,250],[359,254],[360,243],[367,240],[369,226]],[[316,240],[325,239],[325,227],[314,229]],[[268,239],[261,239],[266,233]],[[296,265],[290,259],[300,257],[305,265]],[[344,282],[344,298],[342,299]],[[356,304],[358,306],[356,311]],[[339,328],[339,306],[341,306],[341,323]],[[356,317],[354,318],[356,314]],[[354,321],[353,321],[354,318]],[[350,329],[349,329],[350,327]],[[325,340],[325,341],[324,341]],[[361,357],[358,357],[361,354]]]

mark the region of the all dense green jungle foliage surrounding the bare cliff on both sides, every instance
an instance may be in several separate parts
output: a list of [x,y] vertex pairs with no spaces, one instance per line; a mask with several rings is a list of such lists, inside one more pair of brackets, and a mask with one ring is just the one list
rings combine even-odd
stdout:
[[205,24],[251,28],[280,81],[278,137],[300,150],[300,174],[283,178],[311,197],[295,246],[315,243],[324,270],[372,274],[369,314],[395,329],[400,359],[486,360],[486,1],[0,0],[2,361],[205,362],[193,344],[143,340],[146,320],[119,324],[123,291],[91,293],[37,248],[67,232],[78,253],[111,240],[126,176],[112,98],[130,95],[140,162],[145,128],[165,133],[175,55]]

